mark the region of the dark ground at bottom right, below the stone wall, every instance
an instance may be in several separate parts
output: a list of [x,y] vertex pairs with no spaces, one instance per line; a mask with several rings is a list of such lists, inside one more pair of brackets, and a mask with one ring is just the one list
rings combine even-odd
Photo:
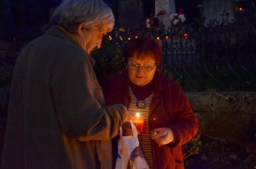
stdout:
[[201,136],[199,154],[184,160],[186,169],[256,168],[256,150]]

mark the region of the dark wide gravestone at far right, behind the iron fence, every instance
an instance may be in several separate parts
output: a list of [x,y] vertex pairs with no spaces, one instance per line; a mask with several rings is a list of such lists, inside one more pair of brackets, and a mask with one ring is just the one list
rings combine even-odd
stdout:
[[[204,0],[203,1],[203,17],[204,26],[208,27],[210,22],[216,20],[218,25],[229,25],[235,19],[235,4],[233,0]],[[228,14],[228,16],[227,16]]]

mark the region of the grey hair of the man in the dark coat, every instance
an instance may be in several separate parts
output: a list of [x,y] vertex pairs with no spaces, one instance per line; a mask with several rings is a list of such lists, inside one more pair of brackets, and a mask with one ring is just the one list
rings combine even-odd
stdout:
[[50,26],[58,25],[74,33],[79,24],[88,31],[107,28],[112,31],[114,15],[106,3],[101,0],[63,0],[50,18]]

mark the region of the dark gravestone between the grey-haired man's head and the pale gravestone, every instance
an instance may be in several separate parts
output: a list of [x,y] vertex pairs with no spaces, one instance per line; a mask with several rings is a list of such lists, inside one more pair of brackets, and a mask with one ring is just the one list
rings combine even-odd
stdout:
[[[137,31],[143,27],[143,4],[139,0],[121,0],[118,4],[119,27]],[[145,23],[146,24],[146,23]]]

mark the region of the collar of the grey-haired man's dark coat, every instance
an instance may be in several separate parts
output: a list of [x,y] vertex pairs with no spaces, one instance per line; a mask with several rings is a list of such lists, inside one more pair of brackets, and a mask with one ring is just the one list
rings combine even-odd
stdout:
[[[48,29],[46,34],[51,34],[51,35],[54,35],[54,36],[59,37],[61,39],[65,39],[65,40],[69,41],[70,43],[79,46],[84,51],[84,49],[70,35],[68,35],[61,28],[59,28],[59,26],[52,26],[50,29]],[[84,51],[84,52],[86,53],[86,55],[89,55],[86,51]],[[94,66],[95,65],[94,58],[92,58],[89,55],[89,59],[90,59],[90,62],[92,64],[92,66]]]

